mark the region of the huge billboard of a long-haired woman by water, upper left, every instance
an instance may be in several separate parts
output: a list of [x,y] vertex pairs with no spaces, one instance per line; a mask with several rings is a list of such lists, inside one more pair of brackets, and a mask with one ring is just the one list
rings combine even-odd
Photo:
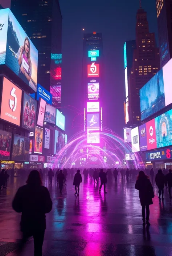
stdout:
[[36,92],[38,51],[10,9],[0,10],[0,17],[1,25],[4,24],[3,33],[0,31],[0,64],[7,65]]

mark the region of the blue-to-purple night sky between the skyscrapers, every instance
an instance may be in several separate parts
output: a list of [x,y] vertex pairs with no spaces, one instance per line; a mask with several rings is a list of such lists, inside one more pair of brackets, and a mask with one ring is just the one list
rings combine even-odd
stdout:
[[[81,125],[76,118],[80,108],[83,31],[102,32],[105,61],[104,94],[108,128],[123,137],[124,126],[124,60],[123,45],[135,39],[136,12],[139,0],[59,0],[63,16],[62,27],[62,111],[66,116],[66,133],[70,137]],[[142,0],[147,12],[150,32],[157,41],[157,18],[155,0]],[[101,90],[101,88],[100,88]],[[66,108],[66,106],[74,108]],[[73,123],[73,126],[72,126]]]

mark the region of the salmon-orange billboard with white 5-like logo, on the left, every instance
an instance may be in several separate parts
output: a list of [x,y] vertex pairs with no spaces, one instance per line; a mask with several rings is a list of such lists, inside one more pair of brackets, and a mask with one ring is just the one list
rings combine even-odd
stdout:
[[0,118],[20,126],[22,91],[4,77]]

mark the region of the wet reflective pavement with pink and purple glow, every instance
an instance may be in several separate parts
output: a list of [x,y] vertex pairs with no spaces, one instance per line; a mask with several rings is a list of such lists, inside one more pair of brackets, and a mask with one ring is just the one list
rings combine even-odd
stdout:
[[[48,180],[44,183],[50,191],[53,210],[46,215],[43,255],[172,256],[172,200],[166,188],[161,202],[153,184],[151,226],[144,228],[135,179],[108,182],[106,195],[103,190],[99,194],[98,186],[89,179],[82,182],[79,196],[74,195],[72,180],[67,181],[62,195],[55,181],[52,187]],[[11,202],[22,184],[15,178],[6,191],[0,191],[0,256],[10,251],[8,256],[16,255],[13,250],[21,237],[20,214],[12,210]],[[26,243],[22,255],[33,255],[33,239]]]

